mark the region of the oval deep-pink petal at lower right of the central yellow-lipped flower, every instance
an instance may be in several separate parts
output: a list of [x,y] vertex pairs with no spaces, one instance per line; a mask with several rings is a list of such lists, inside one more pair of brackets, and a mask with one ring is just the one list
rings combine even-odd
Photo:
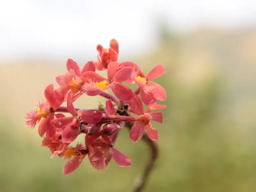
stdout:
[[116,83],[115,87],[112,87],[112,91],[117,99],[122,101],[129,101],[134,98],[132,90],[124,84]]

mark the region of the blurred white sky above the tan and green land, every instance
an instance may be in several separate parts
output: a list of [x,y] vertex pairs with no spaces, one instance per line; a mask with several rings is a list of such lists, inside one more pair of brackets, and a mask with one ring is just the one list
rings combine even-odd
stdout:
[[108,47],[112,38],[122,54],[140,54],[156,41],[160,20],[176,32],[201,26],[251,28],[256,1],[3,0],[0,61],[96,55],[96,44]]

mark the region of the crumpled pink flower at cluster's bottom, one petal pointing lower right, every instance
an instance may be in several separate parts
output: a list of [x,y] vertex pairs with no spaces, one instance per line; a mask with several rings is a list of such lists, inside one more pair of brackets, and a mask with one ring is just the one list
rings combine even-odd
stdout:
[[[101,136],[101,139],[98,139],[99,136]],[[89,161],[94,169],[106,170],[106,166],[112,158],[119,166],[127,167],[132,165],[130,158],[114,148],[112,142],[102,132],[97,132],[92,136],[85,136],[85,145],[88,146],[89,150]]]

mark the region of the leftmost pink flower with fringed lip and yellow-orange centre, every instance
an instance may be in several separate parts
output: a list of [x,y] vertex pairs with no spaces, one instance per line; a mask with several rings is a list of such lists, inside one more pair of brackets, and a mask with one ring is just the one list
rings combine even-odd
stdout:
[[[38,133],[40,137],[46,135],[52,137],[55,134],[55,127],[50,123],[54,119],[54,111],[60,107],[64,97],[59,95],[57,91],[53,89],[53,84],[48,85],[44,90],[44,96],[47,102],[39,102],[38,108],[27,113],[26,124],[31,128],[35,128],[35,125],[39,123]],[[40,121],[41,120],[41,121]]]

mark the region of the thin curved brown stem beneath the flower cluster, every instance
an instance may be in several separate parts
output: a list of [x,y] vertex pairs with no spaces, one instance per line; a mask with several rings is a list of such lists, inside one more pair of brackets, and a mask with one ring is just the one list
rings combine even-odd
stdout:
[[[125,125],[127,126],[127,128],[129,130],[131,130],[133,123],[132,122],[126,122]],[[149,145],[150,151],[151,151],[151,156],[150,156],[150,159],[148,161],[148,164],[146,165],[146,167],[143,171],[143,174],[142,174],[139,182],[136,183],[136,186],[135,186],[133,192],[140,192],[142,190],[142,188],[145,186],[145,183],[148,179],[148,176],[149,176],[150,172],[152,171],[152,168],[154,167],[155,162],[156,162],[156,158],[158,156],[158,146],[157,146],[156,141],[153,141],[153,140],[149,139],[147,134],[144,134],[142,136],[142,140],[144,140]]]

